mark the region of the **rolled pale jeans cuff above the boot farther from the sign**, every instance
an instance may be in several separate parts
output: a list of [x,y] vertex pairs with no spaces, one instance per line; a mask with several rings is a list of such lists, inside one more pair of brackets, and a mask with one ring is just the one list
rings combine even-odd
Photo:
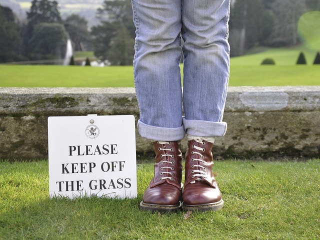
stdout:
[[226,132],[226,122],[214,122],[204,120],[187,120],[182,118],[186,134],[194,136],[223,136]]

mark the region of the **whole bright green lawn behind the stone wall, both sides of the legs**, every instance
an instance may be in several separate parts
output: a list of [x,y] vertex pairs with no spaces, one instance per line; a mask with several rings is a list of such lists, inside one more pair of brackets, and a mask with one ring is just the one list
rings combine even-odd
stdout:
[[[303,47],[254,48],[251,54],[230,60],[230,86],[319,85],[316,51]],[[300,51],[306,65],[296,65]],[[275,65],[260,65],[266,58]],[[181,65],[182,67],[182,65]],[[0,87],[133,87],[132,66],[0,65]]]

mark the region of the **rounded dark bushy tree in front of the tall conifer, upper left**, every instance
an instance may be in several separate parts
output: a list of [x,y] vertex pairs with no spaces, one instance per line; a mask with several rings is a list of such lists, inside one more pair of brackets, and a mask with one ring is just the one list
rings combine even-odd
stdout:
[[68,33],[61,23],[38,23],[34,27],[29,47],[37,59],[61,58]]

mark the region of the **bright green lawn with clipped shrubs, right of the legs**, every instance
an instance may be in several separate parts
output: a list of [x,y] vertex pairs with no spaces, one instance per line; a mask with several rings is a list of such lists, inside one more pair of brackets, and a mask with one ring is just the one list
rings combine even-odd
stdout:
[[[300,52],[306,65],[296,65]],[[313,65],[316,51],[303,46],[266,48],[255,47],[247,55],[230,60],[230,86],[296,86],[319,85],[320,65]],[[272,58],[275,65],[260,65],[263,59]]]

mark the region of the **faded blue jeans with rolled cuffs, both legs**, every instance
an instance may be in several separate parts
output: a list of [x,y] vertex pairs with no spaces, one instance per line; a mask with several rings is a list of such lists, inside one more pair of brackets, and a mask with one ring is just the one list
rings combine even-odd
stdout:
[[185,132],[224,135],[229,4],[229,0],[132,0],[133,74],[142,137],[173,141]]

